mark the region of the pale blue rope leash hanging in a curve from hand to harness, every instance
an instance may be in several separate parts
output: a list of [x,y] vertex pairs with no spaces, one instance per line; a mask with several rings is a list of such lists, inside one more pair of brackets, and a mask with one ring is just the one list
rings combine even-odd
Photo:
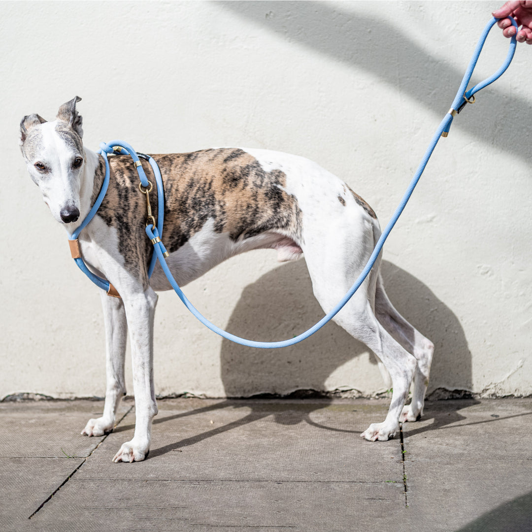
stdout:
[[[175,290],[175,292],[179,296],[180,300],[185,304],[187,309],[190,312],[192,312],[192,314],[194,314],[194,316],[198,320],[200,320],[203,323],[203,325],[205,325],[206,327],[211,329],[216,334],[222,336],[223,338],[231,340],[232,342],[235,342],[237,344],[246,345],[248,347],[259,347],[259,348],[263,348],[263,349],[272,349],[272,348],[277,348],[277,347],[288,347],[290,345],[294,345],[294,344],[297,344],[299,342],[302,342],[304,339],[306,339],[309,336],[313,335],[314,332],[316,332],[319,329],[321,329],[328,321],[330,321],[332,318],[334,318],[334,316],[342,309],[342,307],[347,303],[347,301],[350,300],[350,298],[353,296],[353,294],[356,292],[356,290],[358,290],[358,288],[360,287],[360,285],[362,284],[364,279],[368,276],[369,272],[371,271],[371,268],[373,267],[373,264],[375,264],[375,261],[377,260],[377,257],[379,255],[379,253],[381,252],[381,250],[382,250],[382,248],[384,246],[384,243],[386,242],[386,239],[388,238],[388,235],[392,231],[393,227],[395,226],[395,223],[397,222],[398,218],[400,217],[401,213],[403,212],[404,207],[406,206],[406,203],[408,203],[408,201],[410,199],[410,196],[412,195],[412,193],[414,191],[415,186],[418,184],[418,181],[419,181],[419,179],[421,177],[421,174],[423,173],[423,170],[425,170],[425,167],[426,167],[426,165],[428,163],[428,160],[430,159],[430,156],[432,155],[432,153],[434,151],[434,148],[436,147],[436,144],[438,143],[439,138],[441,136],[447,136],[447,133],[448,133],[450,127],[451,127],[451,122],[453,121],[454,116],[456,114],[458,114],[463,109],[463,106],[465,105],[465,103],[467,103],[467,102],[473,103],[474,99],[472,99],[472,97],[475,95],[475,93],[477,93],[479,90],[483,89],[484,87],[487,87],[489,84],[493,83],[493,81],[495,81],[497,78],[501,77],[502,74],[506,71],[506,69],[510,65],[510,63],[511,63],[511,61],[513,59],[513,54],[516,51],[517,41],[516,41],[516,37],[515,36],[513,36],[511,38],[511,40],[510,40],[510,48],[509,48],[508,54],[506,55],[506,59],[505,59],[503,65],[501,66],[501,68],[499,70],[497,70],[497,72],[495,72],[495,74],[493,74],[493,76],[485,79],[484,81],[482,81],[479,84],[475,85],[475,87],[473,87],[472,89],[469,89],[467,92],[465,92],[465,88],[469,85],[469,81],[471,79],[471,75],[473,73],[473,70],[475,69],[478,57],[480,55],[480,52],[482,51],[482,48],[484,46],[484,42],[485,42],[486,37],[487,37],[487,35],[489,33],[489,30],[492,29],[493,25],[497,22],[497,20],[498,19],[493,18],[492,20],[489,21],[487,26],[484,28],[483,34],[480,36],[480,39],[479,39],[478,44],[477,44],[477,47],[475,49],[475,53],[473,53],[473,57],[472,57],[472,59],[471,59],[471,61],[469,63],[468,69],[465,72],[464,77],[462,79],[462,83],[460,85],[460,88],[458,89],[458,93],[456,94],[456,97],[454,98],[454,101],[453,101],[453,104],[451,106],[451,109],[447,112],[447,114],[445,115],[444,119],[439,124],[439,127],[436,130],[436,132],[434,134],[434,137],[432,138],[432,140],[430,142],[430,145],[427,148],[427,151],[425,152],[425,155],[423,156],[423,159],[422,159],[422,161],[421,161],[421,163],[420,163],[420,165],[418,167],[417,172],[415,173],[414,177],[412,178],[412,180],[410,182],[410,185],[408,186],[408,189],[406,190],[404,196],[402,197],[401,203],[399,204],[399,206],[395,210],[392,218],[388,222],[388,225],[386,226],[386,228],[382,232],[382,234],[381,234],[381,236],[380,236],[380,238],[379,238],[379,240],[378,240],[378,242],[377,242],[377,244],[375,246],[375,249],[373,250],[373,253],[370,256],[370,259],[369,259],[368,263],[365,265],[365,268],[363,269],[363,271],[360,274],[359,278],[356,279],[354,285],[351,287],[349,292],[344,296],[342,301],[340,301],[334,307],[334,309],[332,309],[325,317],[323,317],[313,327],[311,327],[310,329],[306,330],[305,332],[303,332],[299,336],[296,336],[294,338],[290,338],[288,340],[282,340],[280,342],[255,342],[254,340],[247,340],[245,338],[240,338],[239,336],[232,335],[229,332],[226,332],[226,331],[220,329],[219,327],[217,327],[213,323],[211,323],[209,320],[207,320],[194,307],[194,305],[192,303],[190,303],[190,301],[188,301],[187,297],[182,292],[182,290],[179,287],[179,285],[177,284],[176,280],[173,278],[172,273],[170,272],[170,269],[168,268],[168,265],[167,265],[167,263],[165,261],[164,254],[166,253],[166,250],[164,248],[163,243],[161,242],[159,230],[156,227],[154,227],[153,225],[148,225],[146,227],[146,234],[152,240],[152,243],[154,245],[154,250],[155,250],[156,257],[159,259],[161,267],[162,267],[162,269],[164,271],[165,276],[167,277],[168,281],[170,282],[170,285]],[[513,26],[516,27],[516,29],[517,29],[518,28],[517,27],[517,23],[513,19],[511,19],[511,21],[512,21]],[[517,32],[516,32],[516,34],[517,34]],[[115,141],[114,143],[109,143],[106,146],[108,146],[108,147],[109,146],[113,146],[113,145],[114,146],[116,146],[116,145],[124,146],[124,144],[126,144],[126,143],[120,143],[119,141]],[[135,154],[134,150],[129,145],[127,145],[127,146],[128,146],[127,149],[128,149],[129,154],[131,156],[134,156],[134,154]],[[131,149],[129,149],[129,148],[131,148]],[[134,160],[135,160],[135,157],[134,157]],[[142,167],[140,167],[140,168],[142,168]],[[109,167],[107,167],[107,170],[108,169],[109,169]],[[106,177],[108,178],[107,175],[106,175]],[[142,177],[141,177],[141,181],[142,181]],[[105,183],[104,183],[104,185],[105,185]],[[144,185],[144,183],[143,183],[143,185]],[[144,186],[146,186],[146,185],[144,185]],[[102,187],[102,190],[103,190],[103,188],[104,187]],[[159,197],[161,197],[161,196],[159,195]],[[102,196],[102,199],[103,199],[103,196]],[[98,200],[99,200],[99,196],[98,196]],[[97,203],[98,202],[95,203],[95,206],[96,206]],[[93,207],[93,209],[94,209],[94,207]],[[96,210],[97,210],[97,208],[96,208]],[[159,212],[161,212],[161,207],[159,207]],[[84,224],[86,225],[85,221],[82,224],[83,227],[85,227]],[[78,232],[78,234],[79,234],[79,232]],[[155,255],[154,255],[154,257],[155,257]],[[152,257],[152,261],[153,261],[153,257]],[[85,267],[85,269],[87,269],[87,268]],[[102,279],[100,279],[100,280],[103,281]],[[106,281],[104,281],[104,282],[106,282]],[[107,285],[109,285],[109,283],[107,283]]]

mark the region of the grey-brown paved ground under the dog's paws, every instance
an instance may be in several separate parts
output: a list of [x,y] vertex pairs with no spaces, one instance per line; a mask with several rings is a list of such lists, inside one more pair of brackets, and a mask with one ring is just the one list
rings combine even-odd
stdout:
[[162,400],[148,459],[114,464],[133,401],[95,438],[101,401],[0,403],[0,530],[532,530],[531,398],[427,402],[402,438],[362,440],[387,407]]

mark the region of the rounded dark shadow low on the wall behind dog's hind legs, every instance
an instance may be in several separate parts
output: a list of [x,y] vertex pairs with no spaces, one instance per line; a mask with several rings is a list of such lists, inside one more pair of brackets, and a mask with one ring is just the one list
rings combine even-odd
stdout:
[[[396,309],[436,346],[429,393],[437,388],[470,390],[471,353],[453,312],[426,285],[394,264],[383,261],[381,272]],[[322,317],[302,260],[280,265],[247,286],[226,329],[244,338],[285,340]],[[342,380],[338,370],[356,356],[369,356],[379,375],[375,356],[333,322],[300,344],[275,350],[223,340],[220,356],[227,397],[287,395],[295,390],[322,392],[334,371],[340,371],[335,380],[340,379],[342,389],[363,389],[356,375]]]

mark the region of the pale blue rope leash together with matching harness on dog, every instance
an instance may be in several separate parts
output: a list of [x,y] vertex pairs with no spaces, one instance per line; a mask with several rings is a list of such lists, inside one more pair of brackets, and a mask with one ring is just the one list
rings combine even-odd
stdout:
[[[510,17],[512,24],[514,27],[516,27],[516,30],[518,29],[516,21],[514,21]],[[482,51],[482,48],[484,46],[484,42],[486,40],[486,37],[489,33],[489,30],[492,29],[493,25],[497,22],[498,19],[493,18],[489,21],[487,26],[484,28],[483,34],[480,36],[480,39],[478,41],[477,47],[475,49],[475,53],[473,53],[473,57],[471,58],[471,61],[469,63],[468,69],[464,74],[464,77],[462,79],[462,83],[460,84],[460,88],[458,89],[458,93],[456,93],[456,97],[454,98],[453,104],[451,106],[451,109],[447,112],[442,122],[439,124],[438,129],[436,130],[434,137],[432,138],[429,147],[427,148],[427,151],[425,152],[425,155],[423,156],[423,159],[418,167],[417,172],[415,172],[414,177],[412,178],[410,185],[408,186],[408,189],[406,190],[404,196],[402,197],[401,203],[395,210],[392,218],[388,222],[388,225],[382,232],[375,249],[373,250],[373,253],[370,256],[370,259],[368,263],[365,265],[365,268],[363,269],[362,273],[360,274],[359,278],[356,279],[354,285],[351,287],[349,292],[344,296],[342,301],[340,301],[334,309],[332,309],[325,317],[323,317],[318,323],[316,323],[313,327],[306,330],[299,336],[296,336],[294,338],[290,338],[288,340],[282,340],[281,342],[255,342],[254,340],[246,340],[245,338],[240,338],[238,336],[232,335],[229,332],[226,332],[219,327],[215,326],[213,323],[211,323],[209,320],[207,320],[195,307],[190,301],[188,301],[185,294],[182,292],[181,288],[177,284],[176,280],[173,278],[172,273],[170,272],[170,269],[168,267],[168,264],[165,260],[165,256],[168,256],[168,253],[161,242],[161,234],[162,234],[162,213],[164,211],[164,198],[163,198],[163,191],[162,191],[162,178],[161,178],[161,172],[159,171],[159,168],[157,167],[155,161],[153,159],[149,158],[149,162],[152,165],[156,181],[157,181],[157,198],[158,198],[158,218],[159,221],[157,221],[157,227],[153,223],[147,223],[146,225],[146,234],[148,235],[148,238],[151,239],[152,244],[154,245],[154,251],[155,253],[152,256],[152,261],[149,265],[149,275],[151,276],[151,273],[153,272],[153,268],[155,266],[155,261],[159,259],[159,262],[161,264],[161,267],[164,271],[165,276],[167,277],[168,281],[170,282],[170,285],[175,290],[177,295],[179,296],[180,300],[185,304],[187,309],[194,314],[194,316],[200,320],[203,325],[211,329],[216,334],[223,336],[224,338],[227,338],[228,340],[231,340],[232,342],[235,342],[237,344],[246,345],[248,347],[260,347],[260,348],[277,348],[277,347],[288,347],[289,345],[294,345],[299,342],[302,342],[304,339],[308,338],[309,336],[313,335],[314,332],[321,329],[328,321],[330,321],[334,316],[342,309],[342,307],[350,300],[350,298],[353,296],[353,294],[358,290],[364,279],[368,276],[369,272],[371,271],[371,268],[373,267],[373,264],[375,264],[375,261],[377,260],[377,257],[379,253],[381,252],[384,243],[386,242],[386,239],[388,238],[388,235],[390,234],[390,231],[392,231],[393,227],[395,226],[395,223],[397,222],[398,218],[400,217],[401,213],[404,210],[404,207],[406,206],[406,203],[409,201],[410,196],[412,195],[415,186],[418,184],[418,181],[421,177],[421,174],[423,173],[423,170],[425,170],[425,167],[427,165],[427,162],[432,155],[434,148],[436,147],[436,144],[438,143],[438,140],[440,137],[444,136],[446,137],[448,134],[448,131],[451,127],[451,123],[453,121],[453,118],[458,114],[464,107],[466,103],[473,103],[475,101],[474,95],[479,90],[483,89],[484,87],[487,87],[489,84],[493,83],[497,78],[501,77],[502,74],[506,71],[508,66],[510,65],[513,54],[516,51],[516,37],[513,36],[510,40],[510,48],[508,51],[508,54],[506,55],[506,59],[501,66],[500,69],[493,74],[493,76],[485,79],[484,81],[481,81],[479,84],[475,85],[473,88],[469,89],[467,92],[465,92],[466,87],[469,85],[469,81],[471,79],[471,75],[473,73],[473,70],[475,69],[475,66],[477,64],[478,57],[480,55],[480,52]],[[516,31],[517,34],[517,31]],[[142,166],[140,165],[140,162],[138,162],[138,156],[134,149],[127,143],[121,142],[119,140],[115,140],[108,144],[102,144],[101,145],[101,153],[104,156],[105,163],[106,163],[106,172],[105,172],[105,179],[104,183],[102,185],[102,190],[98,195],[98,198],[96,200],[96,203],[93,205],[93,208],[90,210],[89,214],[87,215],[87,218],[83,221],[81,226],[74,232],[74,234],[70,237],[71,240],[76,239],[80,233],[80,231],[89,223],[89,221],[94,217],[96,214],[96,211],[98,210],[98,207],[101,205],[103,198],[105,196],[105,192],[107,190],[107,185],[109,184],[109,161],[107,161],[107,153],[113,153],[113,151],[116,153],[117,150],[114,149],[114,147],[119,146],[121,148],[124,148],[125,151],[129,155],[131,155],[132,159],[134,160],[137,171],[139,174],[140,182],[143,187],[147,188],[149,186],[149,182],[146,178],[146,174],[144,173],[144,170],[142,169]],[[144,155],[142,155],[144,156]],[[144,156],[147,157],[147,156]],[[152,162],[153,161],[153,162]],[[91,273],[88,268],[86,267],[83,260],[79,257],[76,259],[76,262],[80,269],[86,273],[86,275],[89,277],[90,280],[95,282],[99,287],[109,290],[109,281],[106,281],[104,279],[101,279],[97,276],[95,276],[93,273]]]

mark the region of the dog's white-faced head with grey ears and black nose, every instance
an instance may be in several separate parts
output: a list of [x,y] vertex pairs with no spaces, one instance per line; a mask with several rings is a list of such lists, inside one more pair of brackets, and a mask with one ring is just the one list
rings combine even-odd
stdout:
[[76,96],[59,108],[53,122],[30,114],[20,122],[20,149],[31,179],[38,185],[54,218],[74,223],[79,218],[85,150],[82,118]]

